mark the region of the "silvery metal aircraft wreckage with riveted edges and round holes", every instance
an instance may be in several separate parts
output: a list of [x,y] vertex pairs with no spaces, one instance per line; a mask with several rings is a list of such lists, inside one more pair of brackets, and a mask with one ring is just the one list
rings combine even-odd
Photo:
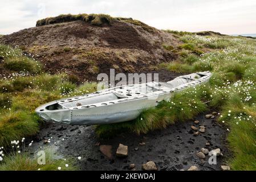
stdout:
[[179,76],[168,82],[116,86],[82,96],[48,102],[36,113],[49,122],[71,125],[100,125],[136,119],[143,109],[170,100],[175,92],[209,80],[210,72]]

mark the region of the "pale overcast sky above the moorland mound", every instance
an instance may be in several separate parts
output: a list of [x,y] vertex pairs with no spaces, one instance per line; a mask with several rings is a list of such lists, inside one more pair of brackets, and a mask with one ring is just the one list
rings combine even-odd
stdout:
[[132,17],[160,29],[256,34],[255,0],[0,0],[0,34],[59,14]]

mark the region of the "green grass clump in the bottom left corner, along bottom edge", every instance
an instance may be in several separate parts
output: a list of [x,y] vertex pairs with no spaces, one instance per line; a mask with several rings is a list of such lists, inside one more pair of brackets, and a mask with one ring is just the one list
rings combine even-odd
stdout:
[[[13,152],[13,154],[4,157],[3,162],[0,164],[0,171],[75,171],[78,167],[74,166],[70,159],[55,159],[54,151],[47,149],[44,150],[46,154],[46,164],[38,164],[38,156],[31,156],[29,152]],[[65,165],[68,164],[68,167]]]

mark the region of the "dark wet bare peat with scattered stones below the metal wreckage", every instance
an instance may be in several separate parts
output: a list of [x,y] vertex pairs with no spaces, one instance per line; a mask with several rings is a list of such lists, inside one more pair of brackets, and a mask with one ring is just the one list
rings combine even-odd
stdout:
[[[34,139],[34,151],[40,146],[54,146],[58,154],[75,159],[82,170],[128,170],[129,164],[136,164],[136,169],[141,170],[141,165],[148,160],[153,160],[159,170],[181,170],[190,166],[197,166],[200,170],[220,170],[229,156],[226,148],[226,129],[214,119],[205,119],[204,114],[198,115],[198,125],[193,121],[176,123],[164,130],[156,130],[145,135],[122,133],[111,139],[99,139],[94,133],[94,126],[60,126],[48,123]],[[205,133],[193,136],[191,126],[204,125]],[[52,137],[52,138],[51,138]],[[51,139],[50,139],[51,138]],[[44,140],[51,142],[44,144]],[[140,143],[145,142],[141,146]],[[206,146],[206,142],[210,146]],[[116,149],[119,143],[128,146],[128,156],[118,158]],[[104,156],[100,145],[112,146],[112,158]],[[200,149],[208,148],[209,151],[221,148],[224,156],[217,156],[217,164],[202,163],[196,156]],[[78,156],[82,159],[78,160]]]

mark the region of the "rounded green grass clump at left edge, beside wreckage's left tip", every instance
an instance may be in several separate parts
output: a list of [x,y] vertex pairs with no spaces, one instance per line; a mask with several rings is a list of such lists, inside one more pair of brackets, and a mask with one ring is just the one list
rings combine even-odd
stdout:
[[35,135],[39,131],[34,115],[26,111],[9,111],[0,116],[0,146],[10,145],[11,140]]

